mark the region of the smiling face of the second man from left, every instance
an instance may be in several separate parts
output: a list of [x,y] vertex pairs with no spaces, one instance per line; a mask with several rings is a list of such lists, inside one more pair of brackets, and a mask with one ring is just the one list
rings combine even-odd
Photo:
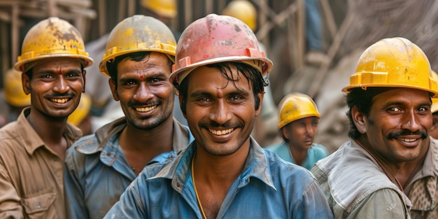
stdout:
[[110,79],[113,97],[120,101],[128,125],[153,129],[173,118],[174,87],[169,82],[169,59],[151,52],[141,62],[129,58],[119,62],[118,86]]

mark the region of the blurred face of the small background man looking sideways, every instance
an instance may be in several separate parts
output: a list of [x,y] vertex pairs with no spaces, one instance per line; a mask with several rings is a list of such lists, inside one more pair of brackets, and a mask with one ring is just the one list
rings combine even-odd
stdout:
[[290,122],[283,127],[283,136],[288,145],[296,150],[308,150],[318,132],[319,118],[311,116]]

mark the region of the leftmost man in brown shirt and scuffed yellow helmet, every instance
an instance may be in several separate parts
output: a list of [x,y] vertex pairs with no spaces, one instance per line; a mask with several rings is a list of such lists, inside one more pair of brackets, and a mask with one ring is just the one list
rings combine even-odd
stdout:
[[0,129],[0,218],[65,218],[64,157],[81,136],[67,118],[92,62],[78,29],[58,17],[24,36],[14,69],[31,105]]

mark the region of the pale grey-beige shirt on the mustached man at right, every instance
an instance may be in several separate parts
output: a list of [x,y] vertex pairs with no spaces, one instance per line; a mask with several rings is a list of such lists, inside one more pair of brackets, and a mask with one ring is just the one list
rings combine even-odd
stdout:
[[411,201],[355,141],[319,160],[311,169],[334,218],[410,219]]

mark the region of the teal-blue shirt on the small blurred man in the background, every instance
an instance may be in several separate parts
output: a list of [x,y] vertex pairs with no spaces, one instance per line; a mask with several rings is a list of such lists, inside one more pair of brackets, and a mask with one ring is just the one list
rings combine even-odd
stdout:
[[[292,164],[296,164],[292,153],[290,153],[289,145],[285,141],[282,141],[281,143],[273,146],[269,146],[267,147],[267,149],[276,153],[279,157],[281,157],[281,159],[287,162],[291,162]],[[307,150],[307,156],[302,163],[302,167],[311,170],[313,164],[327,156],[327,148],[325,148],[323,145],[320,145],[319,143],[313,143]]]

